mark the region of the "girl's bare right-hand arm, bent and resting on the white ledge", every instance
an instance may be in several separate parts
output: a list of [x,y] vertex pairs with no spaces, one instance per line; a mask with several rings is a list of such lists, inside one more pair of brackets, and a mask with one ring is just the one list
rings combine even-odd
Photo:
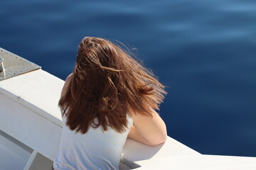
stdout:
[[166,141],[167,132],[164,120],[156,111],[152,111],[153,117],[132,114],[134,121],[128,137],[146,145],[159,145]]

